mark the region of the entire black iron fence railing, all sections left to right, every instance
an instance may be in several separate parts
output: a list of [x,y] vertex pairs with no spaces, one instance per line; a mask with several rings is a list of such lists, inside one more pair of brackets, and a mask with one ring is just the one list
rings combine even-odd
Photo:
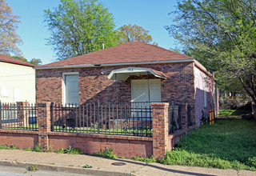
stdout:
[[[170,134],[182,129],[185,115],[187,126],[193,125],[190,105],[173,102],[168,114]],[[50,118],[52,131],[152,136],[150,102],[96,102],[79,106],[52,103]],[[0,129],[38,130],[36,104],[0,102]]]

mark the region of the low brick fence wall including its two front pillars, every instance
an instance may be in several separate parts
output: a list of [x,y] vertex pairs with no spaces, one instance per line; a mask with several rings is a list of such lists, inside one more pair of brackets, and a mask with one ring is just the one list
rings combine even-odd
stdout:
[[[38,131],[0,129],[0,145],[19,148],[41,146],[44,150],[58,150],[72,146],[86,154],[113,149],[118,157],[162,158],[171,150],[172,138],[168,134],[169,103],[151,103],[153,134],[150,137],[63,133],[50,130],[50,102],[38,102]],[[22,117],[25,117],[22,115]]]

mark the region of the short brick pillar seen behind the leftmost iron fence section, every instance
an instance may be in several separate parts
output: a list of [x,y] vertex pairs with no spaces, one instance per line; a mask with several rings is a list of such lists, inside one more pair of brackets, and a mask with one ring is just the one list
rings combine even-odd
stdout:
[[29,102],[17,102],[18,126],[29,125]]

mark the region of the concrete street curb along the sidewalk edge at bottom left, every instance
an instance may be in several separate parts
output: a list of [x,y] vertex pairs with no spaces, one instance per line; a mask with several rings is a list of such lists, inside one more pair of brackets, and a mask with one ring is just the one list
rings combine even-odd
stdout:
[[65,173],[74,173],[74,174],[91,174],[91,175],[104,175],[104,176],[119,176],[119,175],[132,175],[135,176],[134,173],[126,173],[126,172],[117,172],[117,171],[108,171],[108,170],[97,170],[91,168],[81,168],[76,166],[54,166],[48,164],[41,163],[33,163],[33,162],[16,162],[16,161],[6,161],[0,160],[0,165],[2,166],[14,166],[14,167],[25,167],[26,169],[31,165],[38,166],[38,170],[49,170],[54,172],[65,172]]

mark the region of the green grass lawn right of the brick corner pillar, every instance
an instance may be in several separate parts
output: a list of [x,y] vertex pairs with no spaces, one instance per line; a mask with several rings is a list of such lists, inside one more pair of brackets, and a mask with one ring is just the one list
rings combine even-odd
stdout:
[[198,127],[174,150],[158,160],[163,164],[219,169],[256,170],[256,122],[222,119]]

